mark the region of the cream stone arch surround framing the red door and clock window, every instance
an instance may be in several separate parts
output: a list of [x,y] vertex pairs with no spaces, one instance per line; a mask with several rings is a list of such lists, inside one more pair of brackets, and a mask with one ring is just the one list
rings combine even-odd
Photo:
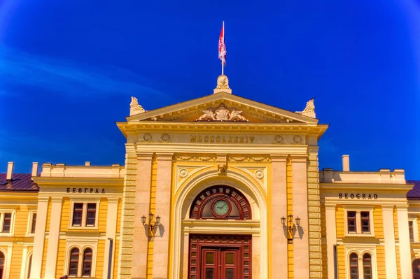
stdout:
[[[204,189],[223,185],[225,189],[232,187],[241,196],[246,198],[249,204],[248,217],[232,217],[223,220],[217,220],[214,217],[209,218],[195,218],[191,213],[194,211],[193,203],[199,197],[199,194]],[[204,197],[207,198],[207,197]],[[210,201],[208,198],[207,200]],[[245,245],[249,249],[250,269],[249,276],[242,276],[241,278],[267,278],[267,196],[265,190],[255,183],[252,178],[245,173],[240,173],[235,169],[230,169],[225,176],[218,175],[214,170],[205,170],[200,173],[195,173],[190,180],[185,184],[179,185],[178,191],[174,199],[174,229],[172,234],[172,278],[186,279],[195,278],[190,277],[190,239],[193,236],[211,236],[210,241],[216,240],[216,237],[248,237],[250,242]],[[214,200],[213,200],[214,201]],[[211,204],[215,204],[211,201]],[[239,203],[240,204],[240,203]],[[222,203],[219,207],[223,208]],[[220,208],[220,209],[222,209]],[[202,208],[204,210],[204,207]],[[215,208],[214,208],[215,209]],[[217,210],[218,208],[216,208]],[[220,218],[223,218],[223,212],[216,213]],[[232,210],[233,213],[233,210]],[[211,213],[213,214],[213,213]],[[228,213],[226,213],[228,214]],[[245,215],[244,215],[245,216]],[[248,219],[249,218],[249,219]],[[213,238],[214,237],[214,238]],[[209,242],[209,238],[207,239]],[[228,239],[228,238],[226,238]],[[235,240],[234,240],[235,241]],[[241,240],[237,239],[241,242]],[[244,240],[245,241],[245,240]],[[252,263],[252,266],[251,266]],[[235,278],[235,277],[234,277]]]

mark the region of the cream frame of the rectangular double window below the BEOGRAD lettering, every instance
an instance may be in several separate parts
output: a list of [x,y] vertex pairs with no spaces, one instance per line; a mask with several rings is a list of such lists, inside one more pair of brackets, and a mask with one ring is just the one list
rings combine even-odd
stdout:
[[[344,209],[344,236],[365,236],[374,237],[374,222],[373,222],[373,210],[374,206],[343,206]],[[349,211],[356,211],[356,232],[349,232],[349,226],[347,222],[347,213]],[[369,212],[369,232],[362,231],[362,212]]]

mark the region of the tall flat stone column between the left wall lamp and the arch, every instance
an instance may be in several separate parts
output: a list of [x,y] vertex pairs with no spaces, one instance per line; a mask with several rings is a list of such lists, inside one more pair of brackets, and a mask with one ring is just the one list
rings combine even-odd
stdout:
[[168,276],[169,262],[169,224],[171,212],[171,182],[173,153],[158,153],[156,177],[156,209],[160,215],[160,225],[156,228],[153,245],[153,279]]

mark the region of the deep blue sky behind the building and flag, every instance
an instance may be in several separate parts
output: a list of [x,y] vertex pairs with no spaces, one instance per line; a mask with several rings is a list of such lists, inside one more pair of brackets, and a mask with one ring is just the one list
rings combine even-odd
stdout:
[[23,1],[0,4],[0,171],[124,163],[115,122],[233,93],[286,110],[315,96],[330,128],[320,168],[405,169],[420,180],[416,1]]

